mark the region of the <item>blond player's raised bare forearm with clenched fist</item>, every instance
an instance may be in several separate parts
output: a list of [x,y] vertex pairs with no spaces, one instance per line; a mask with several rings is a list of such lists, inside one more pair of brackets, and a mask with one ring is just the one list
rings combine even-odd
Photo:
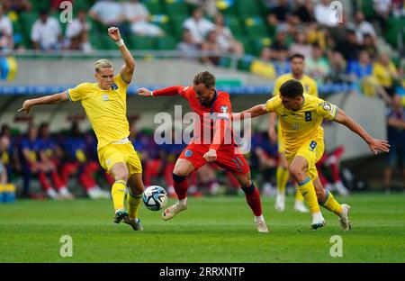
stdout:
[[121,68],[121,78],[127,83],[130,84],[132,80],[133,72],[135,70],[135,59],[133,59],[132,55],[130,54],[130,50],[128,50],[127,46],[125,46],[124,41],[121,38],[121,33],[118,27],[110,27],[108,29],[108,35],[111,37],[113,41],[117,43],[118,48],[121,51],[122,59],[124,59],[125,64]]

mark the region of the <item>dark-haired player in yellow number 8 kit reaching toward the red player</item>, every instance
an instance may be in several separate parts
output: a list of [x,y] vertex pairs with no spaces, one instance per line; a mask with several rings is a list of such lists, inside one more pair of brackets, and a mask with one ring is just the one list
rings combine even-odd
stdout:
[[389,151],[390,145],[388,141],[374,140],[338,106],[303,92],[300,81],[287,80],[280,86],[280,95],[269,99],[266,104],[258,104],[242,113],[234,113],[233,117],[254,118],[266,113],[276,113],[281,122],[289,171],[297,181],[299,190],[310,207],[311,228],[318,229],[325,225],[325,220],[320,213],[320,205],[322,205],[336,213],[343,230],[348,231],[351,228],[348,218],[350,206],[338,204],[333,195],[323,188],[315,167],[324,151],[321,122],[326,118],[347,126],[365,140],[374,153],[377,153],[377,150]]

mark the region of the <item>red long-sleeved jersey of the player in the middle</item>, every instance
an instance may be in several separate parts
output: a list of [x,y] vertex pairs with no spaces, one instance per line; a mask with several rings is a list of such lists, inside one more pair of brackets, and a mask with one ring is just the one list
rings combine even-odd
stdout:
[[[233,133],[230,129],[230,114],[232,111],[229,94],[226,92],[215,91],[215,94],[208,106],[200,104],[193,86],[170,86],[164,89],[153,91],[153,95],[182,95],[190,104],[194,113],[197,113],[198,118],[194,120],[193,142],[211,145],[213,149],[218,149],[220,144],[233,145]],[[225,120],[220,123],[218,120]],[[214,137],[214,126],[217,122],[217,130],[224,132],[220,139],[220,143],[212,143]]]

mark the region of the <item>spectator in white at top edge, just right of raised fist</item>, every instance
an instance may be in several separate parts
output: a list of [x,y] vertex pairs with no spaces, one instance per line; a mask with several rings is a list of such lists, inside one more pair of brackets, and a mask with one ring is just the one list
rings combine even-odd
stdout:
[[149,11],[138,0],[122,4],[125,19],[130,22],[130,31],[140,36],[162,36],[165,34],[156,24],[149,23]]

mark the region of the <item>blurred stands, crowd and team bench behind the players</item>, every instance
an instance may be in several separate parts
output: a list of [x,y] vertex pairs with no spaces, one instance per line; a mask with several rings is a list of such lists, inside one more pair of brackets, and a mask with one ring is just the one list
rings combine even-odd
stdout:
[[[137,61],[127,111],[146,186],[170,191],[175,159],[185,147],[156,144],[155,115],[174,115],[175,104],[184,105],[183,114],[189,109],[180,97],[142,99],[140,86],[187,86],[206,69],[238,112],[265,103],[275,78],[291,71],[289,56],[301,53],[320,97],[392,144],[392,152],[374,156],[347,128],[325,122],[326,152],[318,167],[324,186],[340,195],[403,192],[404,1],[0,0],[3,201],[110,196],[112,179],[98,164],[94,133],[79,104],[38,106],[30,115],[17,110],[25,99],[95,82],[96,59],[121,68],[107,35],[112,25]],[[246,155],[252,177],[262,195],[275,195],[277,144],[269,141],[267,116],[252,124]],[[181,129],[181,122],[173,128]],[[214,165],[194,173],[189,184],[194,196],[238,194],[235,178]],[[293,193],[293,183],[287,192]]]

